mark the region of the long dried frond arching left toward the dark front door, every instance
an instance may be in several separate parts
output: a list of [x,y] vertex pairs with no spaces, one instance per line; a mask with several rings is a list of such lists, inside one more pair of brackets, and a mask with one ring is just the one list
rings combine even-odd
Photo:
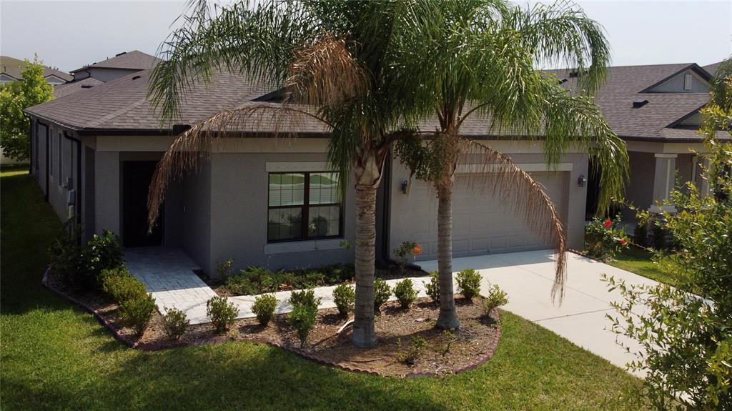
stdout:
[[[321,125],[318,131],[329,127],[324,119],[305,109],[266,103],[224,110],[195,124],[173,141],[157,164],[147,197],[148,227],[155,225],[168,184],[200,170],[215,142],[226,137],[296,137],[296,130],[307,121]],[[310,128],[317,129],[315,124]]]

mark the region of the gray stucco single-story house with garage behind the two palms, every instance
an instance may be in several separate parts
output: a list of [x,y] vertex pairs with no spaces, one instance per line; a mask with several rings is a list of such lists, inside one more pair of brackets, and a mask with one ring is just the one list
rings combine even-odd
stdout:
[[[313,119],[275,130],[266,115],[253,116],[227,129],[241,138],[212,142],[201,169],[169,186],[159,222],[148,233],[149,183],[173,134],[227,108],[277,105],[271,87],[218,74],[210,87],[188,94],[176,126],[163,129],[146,100],[149,75],[149,70],[137,72],[26,109],[34,136],[31,170],[59,216],[74,216],[86,238],[106,229],[127,247],[180,247],[207,274],[215,274],[215,263],[227,258],[239,268],[353,261],[353,250],[343,246],[354,240],[353,185],[348,183],[341,201],[341,176],[329,172],[326,162],[329,130]],[[565,222],[569,246],[581,248],[587,189],[577,181],[588,174],[586,153],[570,150],[548,171],[541,143],[491,137],[487,129],[475,120],[463,127],[544,184]],[[287,137],[291,132],[297,137]],[[458,168],[454,254],[545,248],[500,194],[470,189],[471,170],[469,164]],[[409,181],[397,159],[387,162],[378,194],[378,256],[389,258],[402,241],[417,241],[424,249],[419,260],[436,258],[436,217],[430,185]]]

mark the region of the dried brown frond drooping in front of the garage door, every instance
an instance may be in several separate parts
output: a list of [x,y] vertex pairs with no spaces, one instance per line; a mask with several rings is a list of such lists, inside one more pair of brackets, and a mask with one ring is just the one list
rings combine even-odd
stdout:
[[556,273],[551,295],[561,304],[564,298],[564,281],[567,277],[567,239],[564,225],[542,185],[529,173],[521,170],[500,151],[474,140],[468,141],[463,151],[468,157],[477,157],[479,162],[462,165],[471,178],[470,186],[476,189],[488,187],[494,196],[501,195],[505,204],[510,204],[515,213],[523,216],[527,225],[539,238],[552,246],[556,257]]

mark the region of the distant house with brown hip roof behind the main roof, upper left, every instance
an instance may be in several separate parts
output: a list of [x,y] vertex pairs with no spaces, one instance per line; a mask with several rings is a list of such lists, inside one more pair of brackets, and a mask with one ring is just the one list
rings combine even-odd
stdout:
[[95,78],[106,83],[134,72],[149,69],[157,60],[155,56],[132,50],[119,53],[111,59],[72,70],[71,74],[74,76],[74,81]]

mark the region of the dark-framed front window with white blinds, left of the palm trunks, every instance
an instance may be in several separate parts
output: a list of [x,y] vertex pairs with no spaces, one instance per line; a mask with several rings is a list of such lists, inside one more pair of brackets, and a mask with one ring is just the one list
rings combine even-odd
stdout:
[[338,173],[269,173],[267,241],[341,235]]

